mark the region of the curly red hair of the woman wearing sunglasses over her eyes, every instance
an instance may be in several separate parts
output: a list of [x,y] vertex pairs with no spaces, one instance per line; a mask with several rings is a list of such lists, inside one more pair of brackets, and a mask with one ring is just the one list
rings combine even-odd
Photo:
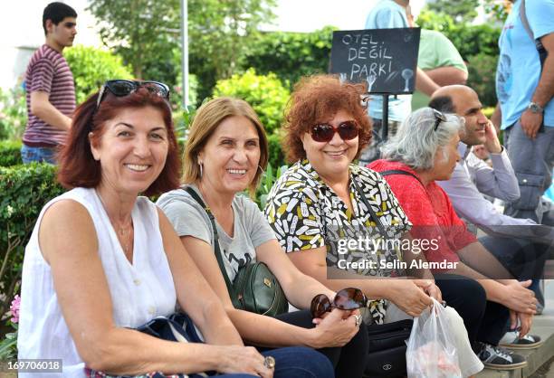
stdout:
[[339,110],[348,111],[358,123],[358,158],[371,139],[371,120],[362,96],[365,84],[340,82],[336,75],[302,78],[295,86],[285,114],[283,149],[289,163],[306,158],[301,136],[313,125],[328,122]]

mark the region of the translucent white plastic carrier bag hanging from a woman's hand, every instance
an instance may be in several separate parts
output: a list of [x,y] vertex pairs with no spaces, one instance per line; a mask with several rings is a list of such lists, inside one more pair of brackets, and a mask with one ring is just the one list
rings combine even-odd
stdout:
[[407,343],[409,378],[463,378],[456,343],[444,307],[433,299],[433,307],[414,318]]

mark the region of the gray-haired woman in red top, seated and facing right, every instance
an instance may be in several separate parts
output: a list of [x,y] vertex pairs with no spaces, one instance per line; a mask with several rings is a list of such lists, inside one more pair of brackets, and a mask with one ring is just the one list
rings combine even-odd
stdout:
[[[448,180],[460,159],[463,118],[423,108],[412,113],[382,148],[384,159],[369,165],[385,176],[414,224],[415,239],[435,241],[424,249],[443,298],[463,317],[473,350],[485,366],[515,369],[519,354],[497,347],[511,317],[529,332],[534,298],[527,283],[510,279],[492,254],[468,232],[436,180]],[[436,246],[433,247],[433,246]],[[491,279],[492,278],[492,279]],[[461,289],[463,288],[463,289]]]

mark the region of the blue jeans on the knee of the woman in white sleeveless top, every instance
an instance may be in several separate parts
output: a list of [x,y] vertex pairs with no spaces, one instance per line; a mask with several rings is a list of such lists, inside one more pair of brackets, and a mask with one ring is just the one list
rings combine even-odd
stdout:
[[333,378],[335,376],[329,358],[311,348],[288,346],[262,354],[275,358],[273,378]]

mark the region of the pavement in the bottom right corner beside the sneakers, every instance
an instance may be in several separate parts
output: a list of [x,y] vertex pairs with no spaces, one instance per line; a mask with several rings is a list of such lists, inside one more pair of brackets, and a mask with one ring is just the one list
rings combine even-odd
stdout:
[[527,358],[527,366],[513,371],[484,369],[477,378],[554,378],[554,279],[545,280],[545,310],[535,317],[532,335],[540,335],[544,344],[537,349],[520,350]]

